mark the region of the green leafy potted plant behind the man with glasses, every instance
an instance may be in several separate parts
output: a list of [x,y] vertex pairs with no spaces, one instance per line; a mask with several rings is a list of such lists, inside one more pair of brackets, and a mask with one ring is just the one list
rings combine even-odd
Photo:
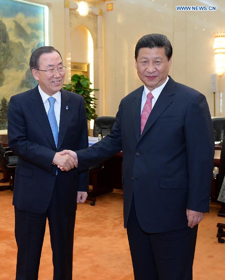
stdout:
[[89,86],[91,84],[92,83],[90,82],[88,77],[84,77],[84,75],[74,74],[71,77],[71,82],[67,85],[63,85],[62,87],[66,91],[72,91],[83,96],[88,120],[95,119],[97,117],[97,114],[95,112],[95,100],[97,100],[97,98],[95,98],[94,94],[91,92],[99,91],[99,89],[90,88]]

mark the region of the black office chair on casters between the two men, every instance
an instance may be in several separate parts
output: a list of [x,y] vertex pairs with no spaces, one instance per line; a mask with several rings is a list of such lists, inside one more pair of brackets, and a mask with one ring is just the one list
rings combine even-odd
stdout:
[[[97,117],[94,120],[93,136],[98,137],[98,134],[101,134],[101,137],[108,135],[114,123],[115,117]],[[92,185],[92,191],[88,193],[87,200],[92,201],[92,206],[95,205],[97,195],[107,193],[107,190],[104,191],[105,182],[102,180],[103,169],[103,163],[89,168],[89,185]]]

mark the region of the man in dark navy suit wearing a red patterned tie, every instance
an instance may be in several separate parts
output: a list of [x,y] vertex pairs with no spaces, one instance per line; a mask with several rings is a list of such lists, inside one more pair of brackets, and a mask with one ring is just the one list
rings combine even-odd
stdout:
[[107,137],[77,152],[83,170],[123,150],[124,227],[136,280],[192,279],[198,223],[209,212],[209,107],[203,94],[168,77],[171,63],[166,36],[143,36],[135,64],[144,86],[121,100]]

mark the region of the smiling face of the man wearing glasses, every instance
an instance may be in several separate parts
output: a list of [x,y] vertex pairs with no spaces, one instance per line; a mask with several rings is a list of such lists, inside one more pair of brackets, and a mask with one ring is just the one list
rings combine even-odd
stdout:
[[[39,58],[39,69],[41,70],[55,69],[62,66],[62,59],[56,51],[42,54]],[[48,74],[48,72],[33,69],[32,74],[41,89],[49,96],[61,90],[65,79],[65,72],[59,73],[58,70],[54,71],[52,75]]]

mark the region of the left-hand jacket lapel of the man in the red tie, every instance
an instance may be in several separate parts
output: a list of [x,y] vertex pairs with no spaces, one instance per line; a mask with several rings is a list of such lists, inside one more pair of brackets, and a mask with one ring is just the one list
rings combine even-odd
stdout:
[[136,96],[134,97],[132,103],[132,115],[133,115],[133,124],[134,131],[137,141],[140,138],[140,123],[141,123],[141,105],[142,105],[142,93],[144,86],[141,86],[137,89]]

